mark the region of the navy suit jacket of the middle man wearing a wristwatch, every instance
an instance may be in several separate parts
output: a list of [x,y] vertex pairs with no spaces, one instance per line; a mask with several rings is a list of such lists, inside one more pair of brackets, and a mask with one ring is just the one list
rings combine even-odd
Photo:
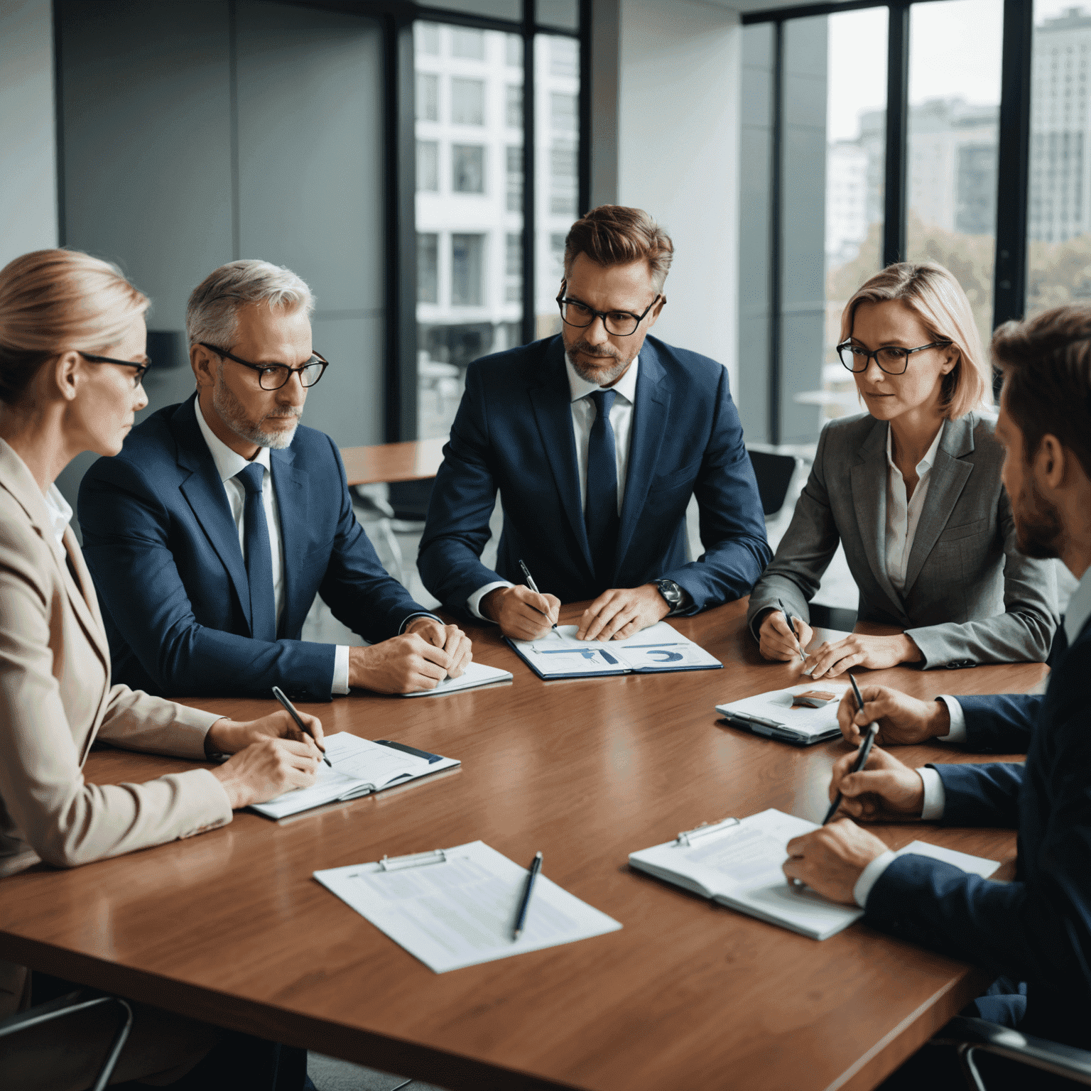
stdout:
[[[465,615],[466,600],[485,584],[521,583],[523,559],[541,590],[562,602],[654,579],[688,591],[690,613],[748,595],[771,554],[727,369],[645,340],[606,585],[595,578],[587,542],[571,401],[560,336],[470,364],[420,543],[424,586]],[[504,530],[492,572],[480,556],[497,489]],[[705,553],[687,562],[685,509],[694,494]]]

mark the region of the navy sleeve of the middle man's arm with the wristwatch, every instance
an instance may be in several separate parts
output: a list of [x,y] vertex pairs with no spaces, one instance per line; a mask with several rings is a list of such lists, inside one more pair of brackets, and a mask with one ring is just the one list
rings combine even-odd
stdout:
[[772,556],[765,537],[765,515],[754,467],[743,444],[739,411],[731,399],[728,369],[721,368],[720,372],[711,435],[693,490],[705,552],[696,561],[660,576],[673,579],[688,591],[693,606],[684,613],[696,613],[750,595]]

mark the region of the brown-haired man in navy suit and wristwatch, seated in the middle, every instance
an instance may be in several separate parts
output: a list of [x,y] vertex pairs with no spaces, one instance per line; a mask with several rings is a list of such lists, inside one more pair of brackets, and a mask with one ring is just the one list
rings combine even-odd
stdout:
[[[727,370],[648,337],[672,253],[642,209],[595,208],[565,243],[560,336],[470,365],[418,559],[451,610],[533,639],[562,601],[594,599],[577,636],[621,639],[738,599],[762,574],[765,519]],[[493,572],[480,556],[497,489]],[[692,495],[705,552],[691,562]],[[520,560],[542,594],[513,586]]]

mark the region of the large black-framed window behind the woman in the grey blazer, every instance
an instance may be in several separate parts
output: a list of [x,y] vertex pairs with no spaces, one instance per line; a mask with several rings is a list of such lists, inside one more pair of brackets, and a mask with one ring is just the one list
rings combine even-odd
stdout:
[[[852,291],[890,262],[950,269],[986,344],[1024,305],[1079,295],[1078,271],[1091,267],[1091,247],[1078,256],[1072,241],[1091,239],[1091,169],[1087,183],[1081,173],[1091,15],[1039,0],[1030,116],[1032,2],[743,15],[740,405],[750,439],[810,444],[824,418],[859,411],[832,346]],[[824,192],[814,177],[820,103]]]

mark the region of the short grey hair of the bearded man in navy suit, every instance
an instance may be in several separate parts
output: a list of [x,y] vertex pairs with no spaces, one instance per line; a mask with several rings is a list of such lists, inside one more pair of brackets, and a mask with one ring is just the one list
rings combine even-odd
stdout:
[[289,311],[302,307],[308,317],[314,312],[311,289],[286,266],[261,261],[228,262],[209,273],[190,296],[185,308],[190,345],[205,341],[229,348],[239,325],[239,308],[248,303]]

